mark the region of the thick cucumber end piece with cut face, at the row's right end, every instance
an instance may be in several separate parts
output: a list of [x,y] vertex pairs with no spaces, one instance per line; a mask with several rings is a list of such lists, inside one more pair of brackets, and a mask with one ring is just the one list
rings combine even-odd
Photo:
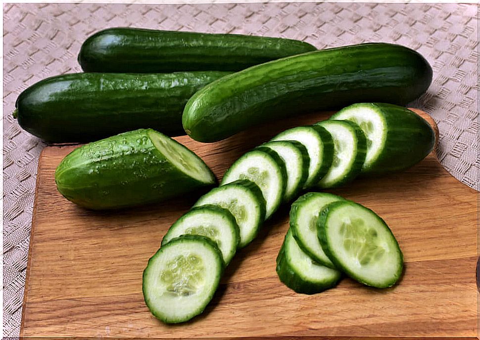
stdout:
[[424,159],[435,145],[429,123],[415,112],[387,103],[357,103],[330,119],[357,123],[367,136],[364,174],[400,171]]

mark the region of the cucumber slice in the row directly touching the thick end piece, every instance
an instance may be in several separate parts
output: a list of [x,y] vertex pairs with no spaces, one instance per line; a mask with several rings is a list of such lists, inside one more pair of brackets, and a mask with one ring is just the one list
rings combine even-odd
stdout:
[[367,153],[365,134],[358,125],[346,120],[324,120],[315,125],[327,129],[334,141],[332,166],[317,187],[339,187],[353,180],[362,170]]

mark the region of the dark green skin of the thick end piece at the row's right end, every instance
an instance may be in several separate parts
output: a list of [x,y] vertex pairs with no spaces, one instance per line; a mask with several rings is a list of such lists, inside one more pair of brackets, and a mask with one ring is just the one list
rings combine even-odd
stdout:
[[[388,103],[357,103],[344,109],[368,105],[384,118],[387,128],[383,151],[362,175],[381,175],[405,170],[424,159],[435,146],[435,133],[430,124],[415,112],[403,106]],[[343,109],[330,119],[337,118]]]

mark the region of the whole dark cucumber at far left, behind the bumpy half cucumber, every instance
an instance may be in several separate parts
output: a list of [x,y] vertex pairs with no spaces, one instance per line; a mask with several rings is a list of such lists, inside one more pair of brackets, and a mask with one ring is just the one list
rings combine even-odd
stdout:
[[152,128],[185,135],[187,100],[229,72],[171,74],[73,73],[44,79],[16,101],[18,124],[52,143],[90,142]]

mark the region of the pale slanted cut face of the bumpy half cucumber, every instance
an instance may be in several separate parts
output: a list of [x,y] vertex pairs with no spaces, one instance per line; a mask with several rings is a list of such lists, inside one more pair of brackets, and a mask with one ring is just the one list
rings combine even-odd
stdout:
[[[150,139],[157,150],[183,173],[203,183],[213,183],[210,169],[195,153],[173,139],[150,131]],[[139,140],[138,143],[143,143]]]

